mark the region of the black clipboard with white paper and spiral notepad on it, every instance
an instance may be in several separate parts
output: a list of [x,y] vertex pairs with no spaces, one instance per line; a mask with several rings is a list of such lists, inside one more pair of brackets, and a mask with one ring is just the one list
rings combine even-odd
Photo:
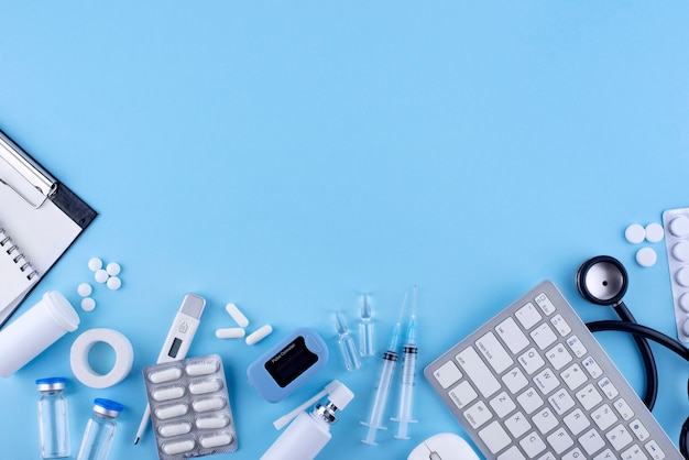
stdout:
[[0,327],[96,216],[0,130]]

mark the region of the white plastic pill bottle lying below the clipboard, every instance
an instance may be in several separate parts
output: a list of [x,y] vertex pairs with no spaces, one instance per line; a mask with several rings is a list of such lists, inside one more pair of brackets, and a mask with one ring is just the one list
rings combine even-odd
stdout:
[[9,377],[78,326],[79,315],[69,302],[57,291],[48,291],[0,331],[0,375]]

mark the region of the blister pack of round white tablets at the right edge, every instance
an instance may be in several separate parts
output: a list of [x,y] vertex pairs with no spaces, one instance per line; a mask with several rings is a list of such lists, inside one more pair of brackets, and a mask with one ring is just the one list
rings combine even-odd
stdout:
[[663,212],[677,338],[689,342],[689,208]]

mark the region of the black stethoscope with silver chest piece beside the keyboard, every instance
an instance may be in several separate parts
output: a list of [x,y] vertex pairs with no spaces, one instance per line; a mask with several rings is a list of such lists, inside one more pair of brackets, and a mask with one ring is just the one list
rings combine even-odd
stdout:
[[[575,284],[584,299],[595,305],[612,306],[620,317],[620,320],[587,322],[591,332],[616,330],[634,336],[646,371],[646,391],[643,401],[648,410],[652,410],[658,395],[658,370],[648,340],[660,343],[687,361],[689,361],[689,349],[680,341],[636,322],[630,309],[622,302],[627,289],[628,275],[624,265],[615,258],[599,255],[583,262],[577,271]],[[686,459],[689,459],[688,434],[689,418],[682,425],[679,439],[679,449]]]

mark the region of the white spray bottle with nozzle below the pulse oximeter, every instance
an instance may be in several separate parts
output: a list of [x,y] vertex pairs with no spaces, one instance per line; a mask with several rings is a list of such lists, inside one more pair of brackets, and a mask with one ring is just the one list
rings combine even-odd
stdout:
[[273,442],[261,460],[313,460],[332,439],[330,426],[336,413],[354,398],[347,386],[338,385],[329,393],[326,404],[316,404],[311,413],[302,412]]

